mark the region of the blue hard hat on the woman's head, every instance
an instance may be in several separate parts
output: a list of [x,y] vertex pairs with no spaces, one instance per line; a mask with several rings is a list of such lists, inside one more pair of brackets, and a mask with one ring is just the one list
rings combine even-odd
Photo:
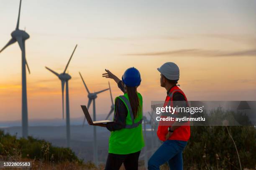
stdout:
[[136,87],[141,84],[141,74],[134,68],[128,68],[122,76],[123,83],[128,87]]

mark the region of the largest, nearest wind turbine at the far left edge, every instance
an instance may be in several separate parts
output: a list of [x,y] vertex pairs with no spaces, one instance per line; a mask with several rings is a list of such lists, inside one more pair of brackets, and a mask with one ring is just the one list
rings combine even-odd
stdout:
[[[20,0],[21,7],[21,0]],[[23,138],[27,138],[28,136],[28,101],[27,101],[27,83],[26,83],[26,66],[28,67],[28,62],[26,60],[26,52],[25,52],[25,40],[29,38],[29,35],[26,31],[19,29],[20,23],[20,7],[18,14],[18,21],[16,25],[16,29],[11,33],[12,38],[9,42],[0,50],[2,52],[6,47],[13,44],[14,42],[18,42],[20,46],[20,50],[22,53],[21,57],[21,67],[22,67],[22,136]],[[28,72],[30,73],[29,67]]]

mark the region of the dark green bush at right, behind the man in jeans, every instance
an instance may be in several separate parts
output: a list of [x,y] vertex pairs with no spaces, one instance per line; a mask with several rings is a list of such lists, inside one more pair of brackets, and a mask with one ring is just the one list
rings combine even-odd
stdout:
[[[213,110],[212,114],[223,117],[230,112]],[[248,125],[248,117],[231,113],[236,120]],[[224,119],[223,119],[224,120]],[[236,143],[242,168],[255,168],[256,129],[254,126],[191,126],[191,137],[183,152],[184,168],[240,169],[238,155],[227,128]]]

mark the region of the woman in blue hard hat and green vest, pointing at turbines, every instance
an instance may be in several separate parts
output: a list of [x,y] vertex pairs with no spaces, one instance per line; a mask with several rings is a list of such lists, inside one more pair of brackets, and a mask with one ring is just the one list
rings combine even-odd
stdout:
[[144,146],[142,96],[137,92],[141,75],[136,68],[131,67],[120,80],[109,70],[105,71],[102,76],[115,80],[124,93],[115,98],[114,122],[102,125],[111,132],[105,170],[119,170],[122,163],[126,170],[138,170],[138,158]]

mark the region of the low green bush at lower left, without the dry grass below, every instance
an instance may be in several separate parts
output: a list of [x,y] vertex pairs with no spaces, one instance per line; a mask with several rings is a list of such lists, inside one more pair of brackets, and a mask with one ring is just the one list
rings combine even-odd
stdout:
[[45,140],[38,140],[32,137],[20,138],[0,131],[0,155],[8,158],[31,158],[50,162],[75,161],[82,163],[74,152],[69,148],[54,147]]

